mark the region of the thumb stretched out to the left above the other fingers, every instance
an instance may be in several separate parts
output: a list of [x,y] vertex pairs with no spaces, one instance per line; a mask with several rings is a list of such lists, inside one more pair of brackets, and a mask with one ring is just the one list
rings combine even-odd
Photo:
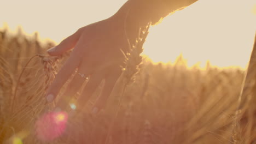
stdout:
[[61,55],[63,52],[66,52],[67,50],[72,49],[75,46],[75,44],[77,44],[77,41],[78,41],[82,31],[83,30],[81,28],[78,29],[77,32],[70,35],[69,37],[67,37],[66,39],[61,41],[61,43],[59,45],[49,49],[47,52],[51,56],[58,56],[58,55]]

